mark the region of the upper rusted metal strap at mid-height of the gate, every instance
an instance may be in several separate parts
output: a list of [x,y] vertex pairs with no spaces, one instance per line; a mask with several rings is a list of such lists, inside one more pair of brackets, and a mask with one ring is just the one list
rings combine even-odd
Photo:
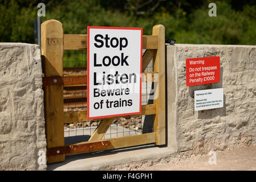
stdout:
[[87,76],[43,77],[43,86],[86,84]]

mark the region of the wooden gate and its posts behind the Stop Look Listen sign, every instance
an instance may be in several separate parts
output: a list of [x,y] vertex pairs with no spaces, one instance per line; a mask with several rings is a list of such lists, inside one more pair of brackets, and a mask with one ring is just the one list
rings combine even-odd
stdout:
[[[46,78],[63,78],[63,50],[87,49],[87,35],[63,34],[62,23],[47,20],[41,25],[42,63]],[[87,120],[87,111],[63,110],[63,83],[44,86],[44,114],[46,120],[47,163],[62,162],[65,155],[109,150],[136,146],[140,144],[165,144],[165,28],[158,24],[153,27],[152,35],[143,35],[143,72],[153,58],[154,72],[158,73],[153,104],[142,105],[141,114],[153,114],[153,133],[102,139],[114,118],[101,121],[88,142],[64,146],[64,123],[83,122]],[[82,74],[80,74],[82,76]],[[147,74],[143,79],[152,80]],[[79,75],[68,75],[79,76]],[[155,78],[156,79],[156,78]],[[64,83],[65,84],[65,83]],[[134,115],[130,115],[134,116]],[[124,116],[123,116],[124,117]]]

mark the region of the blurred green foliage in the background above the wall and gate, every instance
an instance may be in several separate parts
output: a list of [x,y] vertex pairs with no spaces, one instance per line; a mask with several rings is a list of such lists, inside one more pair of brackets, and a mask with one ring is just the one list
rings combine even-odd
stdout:
[[[142,27],[144,35],[150,35],[155,24],[164,24],[166,37],[176,39],[176,43],[255,45],[256,41],[253,1],[247,4],[216,1],[216,17],[208,15],[210,1],[42,2],[46,4],[46,17],[42,17],[42,22],[59,20],[64,34],[87,34],[87,26],[117,26]],[[0,42],[34,43],[37,3],[35,0],[0,0]]]

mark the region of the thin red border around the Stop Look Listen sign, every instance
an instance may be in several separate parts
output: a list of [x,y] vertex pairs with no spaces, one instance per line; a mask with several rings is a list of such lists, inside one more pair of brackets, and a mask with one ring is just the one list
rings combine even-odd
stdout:
[[[90,29],[115,29],[115,30],[141,30],[141,45],[140,45],[140,111],[135,113],[123,113],[123,114],[112,114],[112,115],[102,115],[99,117],[89,117],[90,115]],[[87,119],[98,119],[98,118],[112,118],[119,117],[123,115],[132,115],[141,113],[141,75],[142,75],[142,50],[143,50],[143,28],[133,28],[133,27],[98,27],[98,26],[88,26],[87,27]]]

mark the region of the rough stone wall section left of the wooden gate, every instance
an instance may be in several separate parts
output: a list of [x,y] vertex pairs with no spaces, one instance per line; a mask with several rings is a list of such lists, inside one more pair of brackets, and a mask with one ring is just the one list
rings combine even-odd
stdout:
[[44,152],[39,46],[0,43],[0,170],[46,169],[38,164]]

